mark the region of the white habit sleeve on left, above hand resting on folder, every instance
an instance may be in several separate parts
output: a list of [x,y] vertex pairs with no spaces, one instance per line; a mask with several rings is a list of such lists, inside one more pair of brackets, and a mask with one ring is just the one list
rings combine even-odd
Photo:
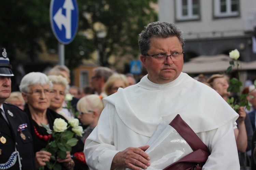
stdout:
[[113,121],[115,108],[107,104],[98,125],[85,141],[84,154],[90,170],[110,169],[114,156],[119,152],[113,142]]

